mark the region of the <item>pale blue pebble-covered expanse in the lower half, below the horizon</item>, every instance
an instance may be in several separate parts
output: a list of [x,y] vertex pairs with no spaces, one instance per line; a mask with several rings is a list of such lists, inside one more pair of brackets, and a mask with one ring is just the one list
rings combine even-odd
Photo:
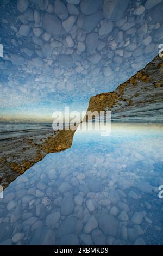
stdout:
[[0,243],[163,244],[162,127],[77,131],[71,149],[47,155],[4,191]]

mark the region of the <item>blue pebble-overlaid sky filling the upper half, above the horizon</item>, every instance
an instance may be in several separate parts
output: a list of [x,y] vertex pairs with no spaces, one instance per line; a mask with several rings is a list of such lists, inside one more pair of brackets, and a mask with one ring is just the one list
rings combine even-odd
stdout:
[[0,8],[0,120],[86,111],[163,42],[162,0],[1,0]]

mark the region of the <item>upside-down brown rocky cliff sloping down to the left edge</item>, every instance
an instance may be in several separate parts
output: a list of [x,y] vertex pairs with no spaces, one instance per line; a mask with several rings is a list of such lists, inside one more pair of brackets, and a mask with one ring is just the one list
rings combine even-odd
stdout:
[[[71,147],[74,131],[37,131],[21,138],[12,138],[1,143],[1,179],[3,187],[9,185],[17,176],[24,173],[33,164],[41,161],[48,153],[60,152]],[[19,157],[17,158],[17,154]],[[49,174],[50,175],[50,174]],[[54,176],[54,173],[51,175]],[[69,184],[68,184],[69,185]],[[70,185],[69,185],[70,186]],[[61,190],[68,191],[64,184]],[[37,190],[37,197],[43,192]]]

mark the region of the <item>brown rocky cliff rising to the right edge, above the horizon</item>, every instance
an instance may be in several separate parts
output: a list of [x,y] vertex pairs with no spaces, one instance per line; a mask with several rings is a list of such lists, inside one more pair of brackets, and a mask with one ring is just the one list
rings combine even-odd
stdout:
[[163,59],[156,56],[114,92],[91,97],[88,111],[111,111],[112,121],[163,121]]

